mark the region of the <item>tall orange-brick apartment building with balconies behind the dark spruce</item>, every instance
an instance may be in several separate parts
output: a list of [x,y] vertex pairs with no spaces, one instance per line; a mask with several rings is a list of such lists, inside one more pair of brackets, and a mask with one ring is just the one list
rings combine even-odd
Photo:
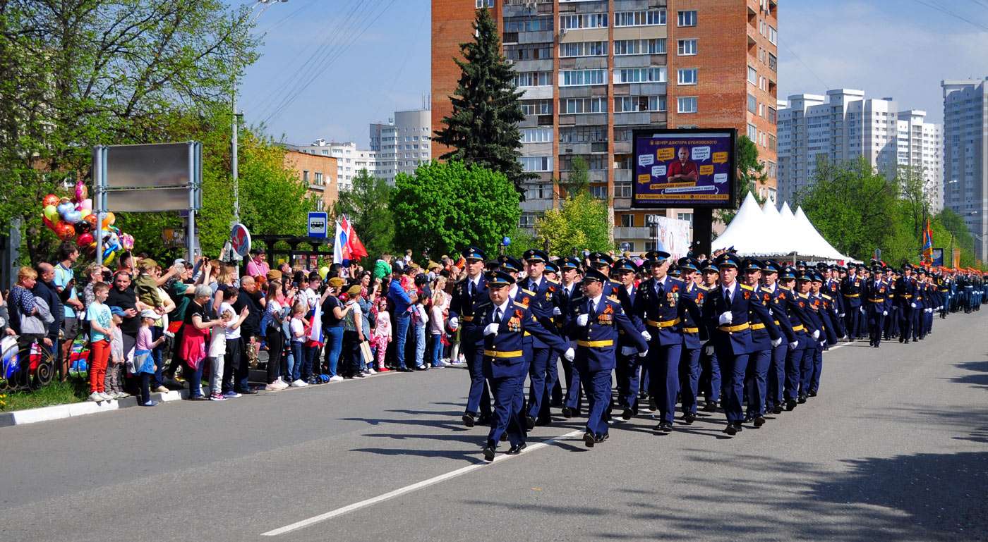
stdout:
[[[525,93],[523,227],[554,202],[574,156],[591,191],[614,211],[615,240],[650,250],[648,214],[630,208],[631,130],[734,127],[758,146],[775,196],[778,0],[432,0],[432,124],[452,112],[459,43],[478,8],[493,11],[505,56]],[[433,158],[446,149],[433,145]]]

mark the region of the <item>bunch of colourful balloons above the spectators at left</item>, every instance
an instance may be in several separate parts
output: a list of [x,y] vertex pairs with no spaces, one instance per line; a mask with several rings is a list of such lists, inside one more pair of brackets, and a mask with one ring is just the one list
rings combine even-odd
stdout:
[[[59,239],[75,239],[80,249],[90,256],[96,253],[96,213],[93,200],[87,194],[82,181],[75,184],[72,197],[47,194],[41,199],[41,220]],[[133,236],[121,232],[114,225],[117,217],[112,212],[103,215],[103,263],[109,264],[120,253],[133,249]]]

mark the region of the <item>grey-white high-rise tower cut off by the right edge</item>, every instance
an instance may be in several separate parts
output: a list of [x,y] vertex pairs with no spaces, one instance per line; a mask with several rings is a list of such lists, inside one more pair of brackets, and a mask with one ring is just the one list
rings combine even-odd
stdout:
[[944,89],[944,206],[964,218],[975,258],[988,254],[988,78],[947,80]]

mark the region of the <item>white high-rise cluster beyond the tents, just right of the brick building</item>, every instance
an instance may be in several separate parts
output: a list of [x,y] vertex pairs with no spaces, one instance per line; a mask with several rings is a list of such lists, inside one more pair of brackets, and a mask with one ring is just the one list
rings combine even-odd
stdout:
[[[898,112],[893,99],[865,99],[860,90],[789,96],[779,109],[780,197],[792,200],[808,188],[818,160],[842,163],[864,157],[889,179],[896,176],[900,165],[926,167],[924,175],[930,176],[931,188],[928,197],[931,205],[939,208],[940,191],[934,190],[939,154],[934,149],[940,148],[940,128],[923,121],[925,112]],[[905,140],[900,137],[900,127],[905,128]]]

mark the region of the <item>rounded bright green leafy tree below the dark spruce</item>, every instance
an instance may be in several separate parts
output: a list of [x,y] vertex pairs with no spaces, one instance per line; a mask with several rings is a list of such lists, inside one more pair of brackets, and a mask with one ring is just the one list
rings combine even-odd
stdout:
[[497,254],[521,215],[519,194],[504,174],[459,161],[398,174],[390,211],[395,244],[415,254],[458,254],[470,244]]

